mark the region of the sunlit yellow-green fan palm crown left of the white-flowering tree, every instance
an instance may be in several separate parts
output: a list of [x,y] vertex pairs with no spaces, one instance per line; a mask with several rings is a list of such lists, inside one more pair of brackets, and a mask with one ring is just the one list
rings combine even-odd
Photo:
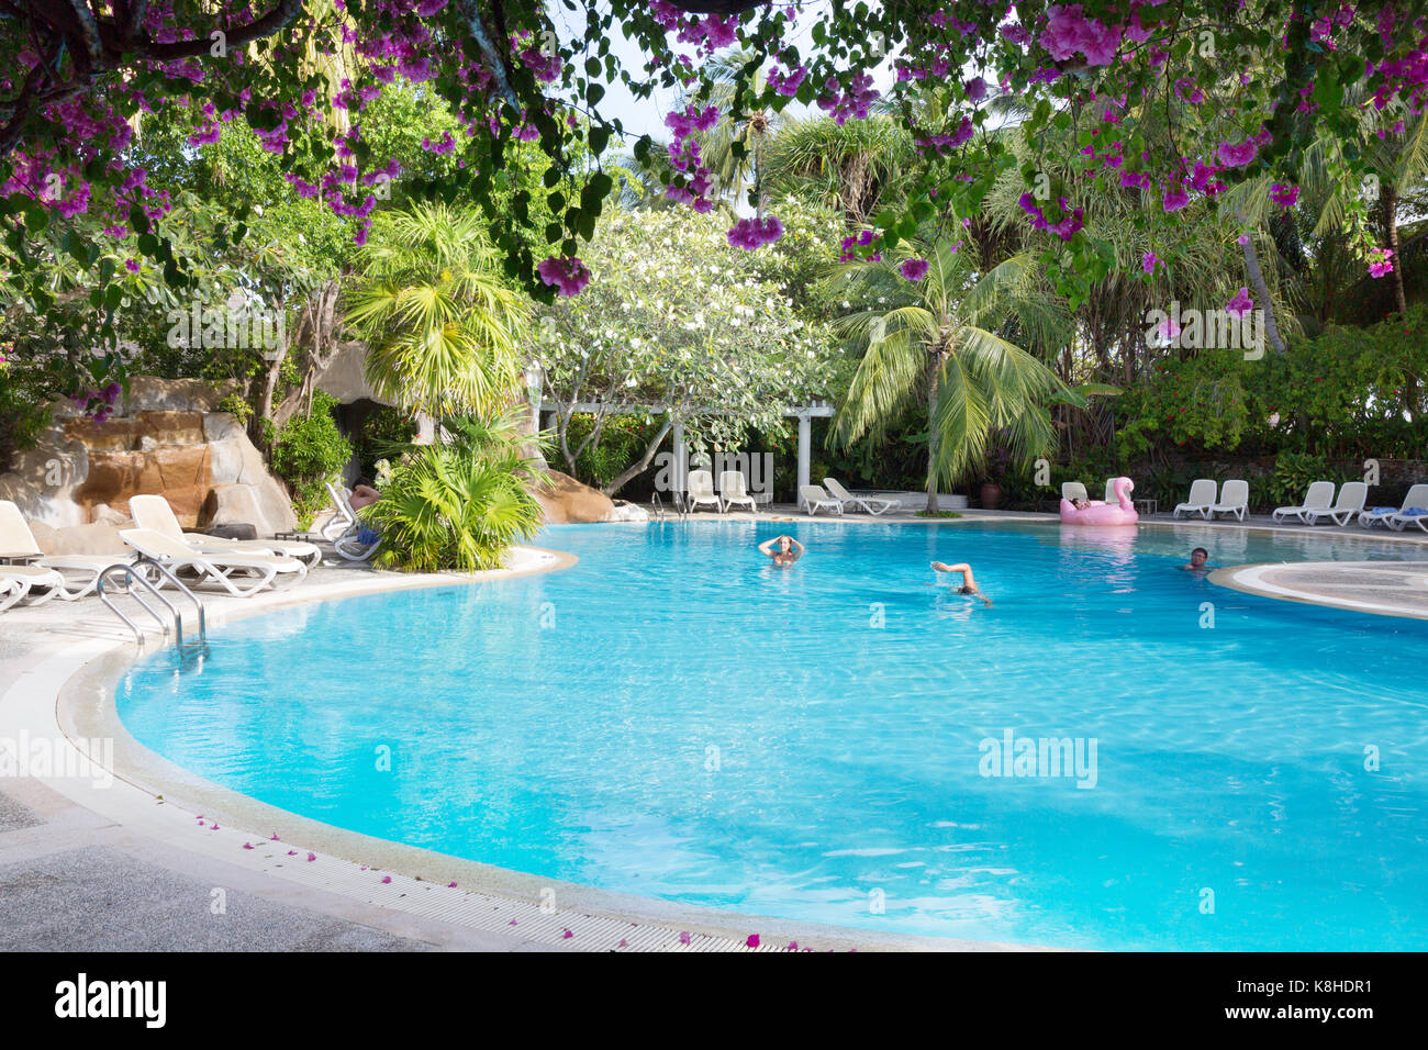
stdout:
[[510,403],[530,311],[497,264],[476,210],[414,204],[377,216],[344,300],[378,396],[437,417]]

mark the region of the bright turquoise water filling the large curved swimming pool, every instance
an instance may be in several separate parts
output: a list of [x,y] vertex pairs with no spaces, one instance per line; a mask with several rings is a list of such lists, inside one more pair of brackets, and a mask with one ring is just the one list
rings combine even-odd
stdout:
[[[791,570],[753,550],[780,529]],[[1415,549],[807,520],[543,543],[581,560],[238,621],[201,670],[156,653],[120,716],[266,803],[610,890],[1024,944],[1428,949],[1428,623],[1175,569]],[[1037,770],[995,767],[1008,734]]]

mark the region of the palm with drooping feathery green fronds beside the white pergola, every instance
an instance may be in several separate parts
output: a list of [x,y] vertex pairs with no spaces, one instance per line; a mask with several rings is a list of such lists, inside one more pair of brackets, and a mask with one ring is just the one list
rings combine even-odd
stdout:
[[[898,263],[915,253],[928,269],[911,281]],[[1070,334],[1034,256],[1015,254],[981,271],[974,251],[941,234],[910,244],[901,259],[841,264],[830,280],[877,304],[837,321],[864,356],[834,417],[831,444],[880,436],[912,399],[925,399],[928,511],[937,510],[940,483],[951,486],[985,463],[992,431],[1004,433],[1018,459],[1054,449],[1045,406],[1080,399],[1007,337],[1054,349]]]

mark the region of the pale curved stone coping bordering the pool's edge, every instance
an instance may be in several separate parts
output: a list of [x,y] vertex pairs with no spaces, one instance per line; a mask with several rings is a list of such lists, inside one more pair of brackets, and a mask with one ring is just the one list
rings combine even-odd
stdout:
[[[960,524],[1055,519],[988,514],[914,521],[857,517],[827,520],[843,524]],[[1187,523],[1144,521],[1142,524],[1174,527]],[[1252,526],[1250,529],[1254,530]],[[524,559],[520,567],[468,577],[384,574],[353,584],[323,584],[278,591],[258,596],[243,607],[224,610],[221,616],[211,617],[211,621],[226,623],[297,604],[400,589],[478,586],[491,579],[560,571],[578,561],[575,556],[564,551],[538,547],[520,550],[534,556],[536,560],[523,554],[517,559]],[[1210,579],[1222,586],[1251,590],[1257,577],[1251,574],[1240,579],[1240,573],[1264,567],[1267,566],[1232,566],[1217,570]],[[1274,593],[1268,586],[1255,593],[1284,600],[1334,604],[1314,597]],[[93,763],[96,771],[111,774],[113,784],[99,786],[93,780],[104,777],[93,774],[37,776],[37,780],[73,801],[166,844],[366,904],[491,933],[508,933],[521,941],[567,949],[751,950],[747,937],[757,933],[760,936],[757,950],[761,951],[784,950],[791,941],[833,950],[1058,950],[781,920],[658,897],[613,893],[463,860],[301,817],[197,777],[134,740],[119,719],[114,686],[139,656],[140,650],[133,641],[111,639],[76,641],[44,657],[0,693],[0,719],[7,723],[7,729],[19,727],[31,740],[54,740],[71,753],[70,757],[80,763],[81,769],[86,767],[84,763]],[[113,741],[110,766],[100,763],[100,756],[89,754],[90,743],[97,740]],[[200,816],[204,819],[201,826]],[[268,839],[278,831],[281,831],[278,841]],[[290,856],[288,850],[296,850],[296,856]],[[313,854],[316,859],[308,861],[304,854]],[[450,887],[450,883],[456,883],[456,889]]]

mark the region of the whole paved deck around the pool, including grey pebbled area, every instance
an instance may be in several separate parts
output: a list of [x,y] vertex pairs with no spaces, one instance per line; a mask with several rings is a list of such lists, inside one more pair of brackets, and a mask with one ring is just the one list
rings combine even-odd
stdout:
[[[793,507],[774,507],[724,520],[804,517]],[[688,520],[720,516],[701,513]],[[843,520],[874,519],[848,514]],[[911,514],[875,520],[948,523]],[[968,510],[950,523],[988,520],[1047,521],[1054,516]],[[1187,523],[1160,516],[1145,524]],[[1304,533],[1307,527],[1277,531]],[[1415,560],[1237,566],[1211,579],[1289,601],[1428,619],[1428,534],[1314,531],[1414,544],[1405,550]],[[204,593],[204,604],[210,626],[217,626],[294,603],[470,584],[573,563],[558,551],[521,549],[508,570],[476,577],[324,564],[296,587],[248,600]],[[23,750],[30,759],[23,774],[6,769],[0,776],[0,950],[1020,947],[897,937],[607,894],[307,821],[200,781],[129,739],[106,690],[137,651],[129,629],[93,597],[0,614],[0,749]],[[758,934],[757,947],[750,947],[751,933]]]

